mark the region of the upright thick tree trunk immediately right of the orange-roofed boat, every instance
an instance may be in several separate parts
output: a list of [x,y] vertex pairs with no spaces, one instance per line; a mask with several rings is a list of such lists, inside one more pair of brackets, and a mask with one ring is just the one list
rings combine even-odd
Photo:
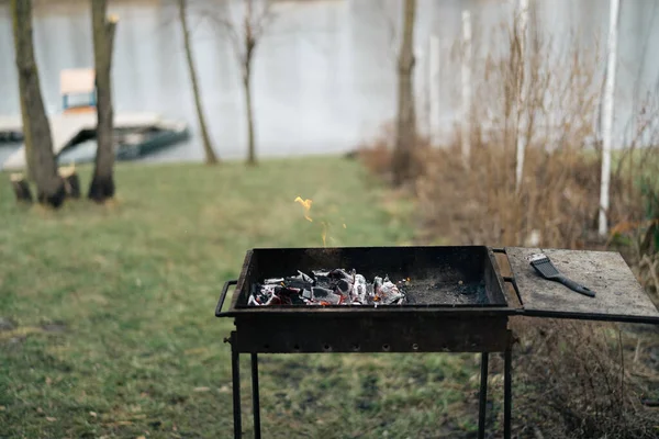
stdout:
[[97,86],[97,156],[89,199],[102,203],[114,196],[114,138],[112,109],[112,47],[116,18],[107,18],[108,0],[91,0],[93,61]]

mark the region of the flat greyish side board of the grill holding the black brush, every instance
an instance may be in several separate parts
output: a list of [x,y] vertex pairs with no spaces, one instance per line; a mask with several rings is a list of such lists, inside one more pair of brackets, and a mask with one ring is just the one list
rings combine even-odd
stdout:
[[[524,315],[659,324],[659,311],[618,252],[506,247]],[[568,278],[595,291],[589,297],[541,278],[529,263],[545,254]]]

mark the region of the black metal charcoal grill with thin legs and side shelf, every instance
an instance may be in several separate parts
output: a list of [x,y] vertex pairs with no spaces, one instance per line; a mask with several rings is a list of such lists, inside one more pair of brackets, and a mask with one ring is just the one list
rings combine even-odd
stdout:
[[[540,278],[528,263],[538,252],[596,297]],[[496,254],[512,275],[502,275]],[[409,278],[409,300],[377,307],[248,305],[253,286],[264,279],[334,267],[355,268],[367,278]],[[223,312],[231,285],[236,290]],[[235,323],[225,338],[232,347],[235,438],[242,437],[241,353],[252,356],[254,430],[260,438],[258,353],[482,352],[479,438],[484,438],[489,353],[503,352],[503,429],[510,438],[511,316],[659,324],[659,312],[617,252],[484,246],[253,249],[238,280],[224,284],[215,315]]]

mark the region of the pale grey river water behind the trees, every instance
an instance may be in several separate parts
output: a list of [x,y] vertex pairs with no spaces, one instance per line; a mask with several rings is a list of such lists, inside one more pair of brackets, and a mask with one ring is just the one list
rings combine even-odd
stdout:
[[[92,67],[88,1],[35,0],[34,42],[47,111],[60,111],[59,71]],[[204,111],[217,154],[244,157],[246,124],[239,68],[225,34],[191,1]],[[574,33],[591,47],[606,41],[608,1],[530,0],[537,26],[570,44]],[[231,2],[238,5],[238,0]],[[420,126],[427,127],[431,34],[440,40],[437,121],[450,126],[459,115],[455,90],[460,69],[450,47],[460,37],[461,13],[472,14],[479,54],[496,49],[490,32],[510,16],[511,1],[418,0],[415,45]],[[155,160],[199,160],[193,99],[177,11],[171,0],[111,1],[120,18],[114,44],[115,111],[154,111],[187,121],[189,142],[161,151]],[[395,113],[395,46],[402,0],[275,1],[275,18],[259,42],[254,61],[257,151],[261,156],[345,151],[372,137]],[[655,90],[659,78],[659,0],[622,2],[616,126],[632,103]],[[0,5],[0,114],[19,113],[11,19]],[[473,58],[474,69],[480,58]],[[602,69],[604,65],[602,65]],[[636,97],[636,98],[635,98]],[[0,160],[13,148],[0,147]]]

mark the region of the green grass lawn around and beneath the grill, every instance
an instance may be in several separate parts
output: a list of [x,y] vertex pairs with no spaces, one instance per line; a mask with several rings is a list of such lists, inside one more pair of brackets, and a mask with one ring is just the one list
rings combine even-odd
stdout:
[[[245,251],[321,246],[323,221],[330,246],[413,237],[413,204],[335,157],[120,165],[116,181],[116,201],[57,212],[0,184],[0,317],[16,323],[0,330],[1,438],[230,437],[232,323],[213,311]],[[313,199],[314,222],[297,195]],[[471,354],[261,356],[260,376],[267,438],[476,428]]]

